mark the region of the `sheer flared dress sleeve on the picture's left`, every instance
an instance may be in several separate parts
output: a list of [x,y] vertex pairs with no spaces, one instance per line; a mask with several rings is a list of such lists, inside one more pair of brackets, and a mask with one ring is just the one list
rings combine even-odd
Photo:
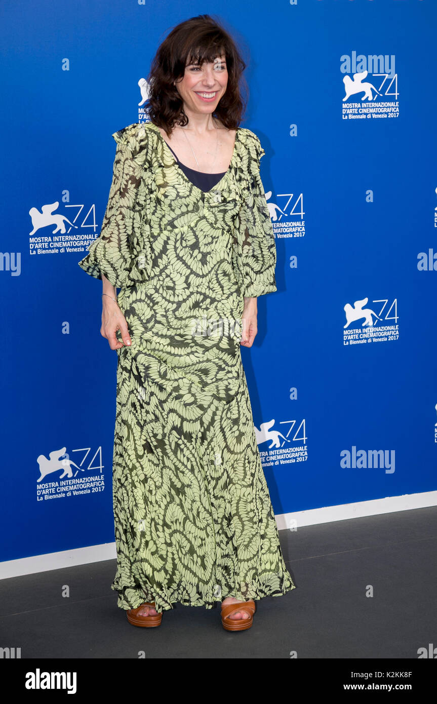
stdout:
[[141,177],[132,159],[128,134],[125,127],[112,135],[117,146],[101,232],[89,246],[87,256],[78,262],[84,272],[96,279],[105,275],[115,288],[127,285],[137,254],[134,206]]

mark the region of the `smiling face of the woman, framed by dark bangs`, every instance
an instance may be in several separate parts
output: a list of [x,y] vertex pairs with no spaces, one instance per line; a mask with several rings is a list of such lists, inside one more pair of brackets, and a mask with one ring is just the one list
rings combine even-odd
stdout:
[[184,101],[185,113],[213,113],[226,92],[227,80],[224,54],[217,56],[213,63],[187,63],[184,77],[175,83]]

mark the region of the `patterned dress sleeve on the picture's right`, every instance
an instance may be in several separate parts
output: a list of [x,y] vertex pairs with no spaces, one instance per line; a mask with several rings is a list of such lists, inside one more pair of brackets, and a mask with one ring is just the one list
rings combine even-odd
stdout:
[[243,296],[258,297],[277,291],[274,270],[277,262],[272,220],[260,176],[260,158],[264,156],[260,140],[252,132],[251,168],[248,188],[241,208]]

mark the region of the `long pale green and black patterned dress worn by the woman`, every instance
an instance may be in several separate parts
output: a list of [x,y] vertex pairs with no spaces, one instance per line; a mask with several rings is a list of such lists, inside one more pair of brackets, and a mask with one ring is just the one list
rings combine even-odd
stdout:
[[[241,363],[243,296],[276,291],[258,137],[201,191],[152,122],[113,134],[101,234],[79,262],[120,288],[113,509],[118,606],[213,608],[295,589]],[[236,322],[235,322],[236,321]],[[117,337],[121,340],[120,332]]]

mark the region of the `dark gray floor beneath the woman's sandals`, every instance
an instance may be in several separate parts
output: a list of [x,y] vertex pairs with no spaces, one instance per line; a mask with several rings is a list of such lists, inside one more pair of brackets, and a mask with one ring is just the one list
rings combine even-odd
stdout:
[[[115,560],[0,582],[0,646],[21,658],[413,658],[437,646],[437,508],[281,531],[296,589],[257,602],[229,633],[220,608],[175,605],[131,626],[110,589]],[[70,598],[61,597],[62,586]],[[366,591],[373,588],[373,597]]]

